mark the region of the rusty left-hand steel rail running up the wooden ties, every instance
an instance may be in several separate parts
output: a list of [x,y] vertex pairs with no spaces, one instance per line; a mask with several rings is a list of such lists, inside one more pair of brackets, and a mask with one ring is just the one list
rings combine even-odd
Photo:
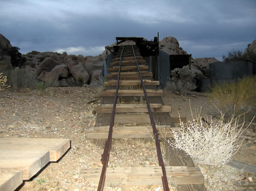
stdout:
[[[123,46],[123,48],[124,48],[124,46]],[[109,154],[110,154],[113,126],[114,126],[114,115],[115,115],[115,112],[116,112],[117,92],[118,92],[118,89],[119,89],[119,78],[120,78],[122,54],[123,54],[123,49],[122,49],[122,52],[121,52],[121,55],[120,55],[120,62],[119,62],[119,69],[118,69],[117,83],[116,83],[116,93],[114,94],[114,104],[113,104],[113,108],[112,108],[110,126],[109,126],[109,131],[108,131],[108,140],[105,142],[104,152],[101,155],[101,157],[102,157],[101,158],[101,163],[103,164],[103,166],[102,166],[102,170],[101,170],[101,177],[99,179],[99,185],[98,185],[98,190],[97,191],[103,191],[104,184],[105,184],[106,171],[107,171],[107,166],[108,166],[108,159],[109,159]]]

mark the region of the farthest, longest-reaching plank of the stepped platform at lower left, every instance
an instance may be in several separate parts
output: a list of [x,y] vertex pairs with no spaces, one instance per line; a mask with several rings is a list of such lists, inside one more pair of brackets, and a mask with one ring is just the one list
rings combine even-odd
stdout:
[[50,161],[57,161],[69,149],[69,139],[0,138],[0,150],[50,151]]

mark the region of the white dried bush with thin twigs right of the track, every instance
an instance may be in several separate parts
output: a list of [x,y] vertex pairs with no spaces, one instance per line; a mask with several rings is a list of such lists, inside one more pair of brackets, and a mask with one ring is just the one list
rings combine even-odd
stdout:
[[232,118],[225,123],[224,115],[221,116],[217,122],[211,118],[210,125],[204,127],[200,113],[197,112],[196,119],[189,121],[189,126],[184,127],[181,122],[179,132],[172,132],[175,140],[169,139],[169,144],[185,151],[199,164],[220,167],[229,163],[241,145],[238,138],[243,132],[244,123],[238,124],[239,118]]

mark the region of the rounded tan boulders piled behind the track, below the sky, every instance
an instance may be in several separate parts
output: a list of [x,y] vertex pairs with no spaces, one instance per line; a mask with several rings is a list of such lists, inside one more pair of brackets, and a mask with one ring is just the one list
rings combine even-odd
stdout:
[[[146,39],[145,39],[146,40]],[[135,44],[133,41],[126,41],[121,45]],[[115,46],[116,43],[108,47]],[[0,61],[7,65],[11,64],[11,56],[1,55],[1,50],[10,49],[10,41],[0,34]],[[186,55],[175,37],[164,37],[159,42],[159,49],[169,55]],[[3,52],[3,51],[2,51]],[[61,86],[84,84],[84,86],[96,86],[101,74],[102,66],[107,55],[111,52],[105,50],[99,56],[68,55],[66,52],[32,52],[22,55],[24,67],[27,73],[33,74],[41,81],[60,81]],[[209,71],[209,64],[218,62],[215,58],[192,59],[192,67],[198,76],[203,77]]]

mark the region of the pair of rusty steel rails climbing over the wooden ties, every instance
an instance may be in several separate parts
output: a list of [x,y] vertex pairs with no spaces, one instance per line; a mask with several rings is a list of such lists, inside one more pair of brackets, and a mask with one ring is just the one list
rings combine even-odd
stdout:
[[[117,73],[117,82],[116,82],[116,92],[114,94],[114,103],[113,103],[111,119],[110,119],[108,139],[105,142],[104,152],[101,155],[101,157],[102,157],[101,162],[102,162],[103,166],[102,166],[101,176],[100,176],[100,179],[99,179],[98,191],[103,191],[104,184],[105,184],[106,171],[107,171],[108,160],[109,160],[109,156],[110,156],[111,140],[112,140],[112,134],[113,134],[114,117],[115,117],[115,113],[116,113],[116,103],[117,103],[117,95],[118,95],[118,90],[119,90],[120,71],[121,71],[122,55],[123,55],[124,47],[125,46],[122,47],[122,52],[120,53],[120,61],[119,61],[119,67],[118,67],[118,73]],[[143,92],[144,92],[144,96],[145,96],[145,99],[146,99],[149,118],[150,118],[151,125],[152,125],[152,128],[153,128],[153,134],[154,134],[155,144],[156,144],[156,148],[157,148],[158,163],[159,163],[159,166],[161,166],[161,169],[162,169],[162,172],[163,172],[163,176],[161,176],[162,183],[163,183],[163,188],[164,188],[164,191],[169,191],[169,185],[168,185],[168,181],[167,181],[167,177],[166,177],[166,169],[165,169],[165,166],[164,166],[164,161],[163,161],[161,147],[160,147],[160,141],[159,141],[159,137],[158,137],[159,134],[158,134],[157,128],[155,126],[155,121],[154,121],[151,106],[150,106],[150,103],[149,103],[147,90],[145,88],[145,80],[143,80],[143,78],[142,78],[142,73],[140,71],[140,66],[139,66],[139,63],[137,61],[136,53],[134,51],[133,45],[131,45],[131,47],[133,49],[132,52],[133,52],[133,55],[134,55],[134,59],[136,61],[137,71],[138,71],[139,76],[140,76],[140,83],[139,84],[141,84],[142,87],[143,87]],[[128,53],[131,53],[131,52],[128,52]],[[126,53],[126,54],[128,54],[128,53]],[[131,69],[136,69],[134,67],[130,67],[130,68]]]

